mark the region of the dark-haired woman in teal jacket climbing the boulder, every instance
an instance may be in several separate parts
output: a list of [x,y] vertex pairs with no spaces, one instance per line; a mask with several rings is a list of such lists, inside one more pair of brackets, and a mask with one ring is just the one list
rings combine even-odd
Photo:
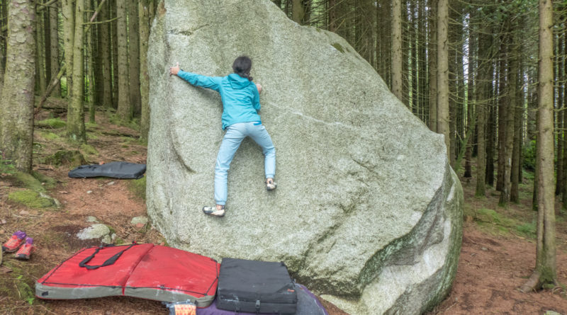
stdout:
[[262,147],[266,189],[276,189],[276,149],[266,131],[260,115],[260,92],[262,86],[254,84],[250,70],[252,60],[240,56],[232,63],[233,74],[228,76],[201,76],[179,69],[179,63],[169,68],[170,75],[179,76],[193,86],[210,88],[220,93],[223,101],[223,142],[218,149],[215,164],[215,202],[213,207],[203,207],[203,212],[215,217],[224,217],[227,200],[227,175],[230,162],[245,137],[251,137]]

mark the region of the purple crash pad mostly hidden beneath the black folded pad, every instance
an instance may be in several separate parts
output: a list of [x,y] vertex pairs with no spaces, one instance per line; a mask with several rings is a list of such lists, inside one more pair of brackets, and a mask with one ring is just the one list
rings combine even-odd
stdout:
[[[322,306],[319,299],[315,294],[311,293],[303,285],[296,283],[297,291],[297,311],[296,315],[329,315]],[[215,301],[209,307],[197,309],[197,315],[235,315],[234,311],[225,311],[224,309],[217,309]],[[256,315],[256,313],[243,313],[238,312],[238,315]]]

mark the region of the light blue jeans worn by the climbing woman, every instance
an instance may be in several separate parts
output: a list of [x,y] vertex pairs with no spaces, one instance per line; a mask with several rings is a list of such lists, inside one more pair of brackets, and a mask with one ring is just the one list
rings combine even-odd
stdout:
[[266,127],[260,122],[237,122],[228,126],[223,142],[218,149],[215,164],[215,202],[217,205],[226,204],[228,169],[232,158],[235,157],[236,150],[245,137],[251,137],[254,142],[262,147],[266,178],[274,178],[276,175],[276,148],[271,142]]

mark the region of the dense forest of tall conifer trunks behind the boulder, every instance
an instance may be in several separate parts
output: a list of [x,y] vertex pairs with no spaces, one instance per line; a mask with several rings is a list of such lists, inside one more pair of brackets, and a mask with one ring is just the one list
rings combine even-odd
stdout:
[[[529,183],[536,251],[520,290],[566,292],[556,216],[567,205],[567,1],[272,2],[300,25],[342,36],[411,113],[444,134],[471,200],[496,197],[504,211],[522,203]],[[40,117],[63,118],[60,137],[79,151],[88,151],[101,113],[147,144],[157,11],[157,0],[0,1],[2,176],[37,171]]]

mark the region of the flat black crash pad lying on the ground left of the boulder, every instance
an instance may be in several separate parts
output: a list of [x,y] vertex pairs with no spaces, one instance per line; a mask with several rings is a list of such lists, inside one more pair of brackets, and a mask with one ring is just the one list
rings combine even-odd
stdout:
[[144,177],[146,164],[111,162],[106,164],[82,165],[69,171],[71,178],[112,177],[137,179]]

